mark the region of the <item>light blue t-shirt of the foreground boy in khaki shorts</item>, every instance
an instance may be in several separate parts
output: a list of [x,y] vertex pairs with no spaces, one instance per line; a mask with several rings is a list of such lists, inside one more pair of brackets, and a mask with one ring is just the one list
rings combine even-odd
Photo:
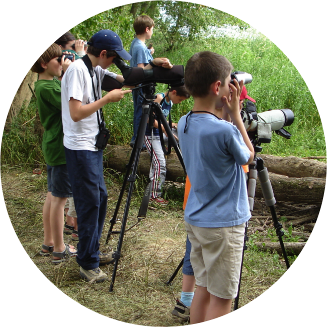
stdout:
[[251,218],[241,165],[250,151],[238,129],[210,114],[178,122],[179,143],[191,190],[185,220],[198,227],[230,227]]

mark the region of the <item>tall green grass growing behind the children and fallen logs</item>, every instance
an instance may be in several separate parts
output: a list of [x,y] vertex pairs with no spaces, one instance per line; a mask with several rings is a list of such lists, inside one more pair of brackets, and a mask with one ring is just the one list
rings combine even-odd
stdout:
[[[219,39],[206,38],[186,44],[181,49],[160,52],[156,56],[168,57],[174,64],[187,63],[198,51],[214,51],[224,55],[235,70],[247,71],[253,75],[253,82],[247,85],[248,93],[257,100],[258,112],[268,109],[291,109],[295,115],[294,123],[286,129],[292,134],[287,140],[273,134],[270,144],[263,145],[263,153],[274,155],[325,156],[326,141],[322,121],[312,94],[292,61],[268,38],[259,39]],[[209,63],[210,64],[210,63]],[[116,66],[110,70],[119,73]],[[196,76],[195,76],[196,78]],[[165,92],[167,86],[158,84],[156,91]],[[192,109],[193,100],[188,99],[174,105],[172,119],[178,122],[182,115]],[[33,121],[22,124],[35,114],[35,102],[22,110],[14,120],[11,132],[3,133],[1,160],[6,163],[35,163],[43,160],[40,139],[33,132]],[[133,101],[131,94],[119,103],[104,107],[107,125],[111,130],[111,144],[128,145],[133,133]]]

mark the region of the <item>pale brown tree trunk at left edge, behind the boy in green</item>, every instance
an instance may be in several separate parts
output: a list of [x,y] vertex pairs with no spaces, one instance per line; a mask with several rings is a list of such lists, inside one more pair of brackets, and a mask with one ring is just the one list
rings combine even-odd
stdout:
[[25,75],[24,79],[21,82],[21,85],[16,91],[16,94],[13,98],[13,101],[10,105],[5,126],[4,129],[9,131],[10,124],[13,122],[13,119],[19,114],[21,111],[21,108],[24,104],[24,101],[26,101],[26,106],[29,105],[32,97],[32,92],[28,85],[31,86],[32,89],[34,89],[34,83],[37,79],[37,74],[32,72],[32,70],[29,70],[27,74]]

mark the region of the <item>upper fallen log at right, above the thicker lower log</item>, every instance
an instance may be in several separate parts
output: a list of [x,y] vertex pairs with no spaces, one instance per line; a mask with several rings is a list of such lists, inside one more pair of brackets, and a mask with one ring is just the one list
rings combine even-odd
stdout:
[[270,154],[258,154],[268,172],[288,177],[327,177],[327,163],[312,159],[301,159],[290,155],[285,158]]

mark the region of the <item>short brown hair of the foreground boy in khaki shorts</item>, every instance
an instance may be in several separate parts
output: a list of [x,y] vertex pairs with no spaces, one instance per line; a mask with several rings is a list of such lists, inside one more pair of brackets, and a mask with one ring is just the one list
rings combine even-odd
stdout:
[[215,81],[220,80],[224,86],[232,69],[231,63],[220,54],[210,51],[195,53],[185,67],[185,87],[192,97],[204,98]]

